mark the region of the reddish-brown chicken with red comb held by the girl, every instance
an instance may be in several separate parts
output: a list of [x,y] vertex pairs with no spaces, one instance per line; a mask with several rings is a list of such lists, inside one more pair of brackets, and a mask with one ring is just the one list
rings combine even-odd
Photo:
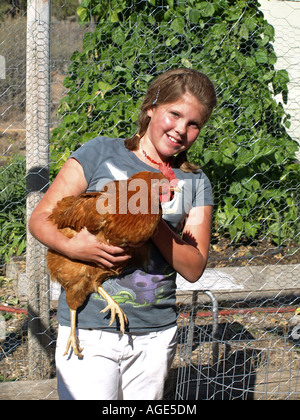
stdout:
[[68,238],[86,228],[101,242],[128,246],[131,255],[128,261],[110,269],[72,260],[48,250],[51,280],[59,282],[65,289],[70,308],[71,332],[64,354],[72,346],[74,353],[82,357],[82,349],[78,347],[76,337],[76,310],[93,292],[98,292],[107,302],[101,312],[110,310],[109,325],[114,322],[117,314],[120,330],[124,334],[127,317],[118,303],[103,289],[102,283],[109,277],[118,276],[127,266],[146,266],[150,238],[162,217],[160,203],[170,200],[172,191],[178,191],[174,172],[169,169],[166,174],[168,176],[161,172],[139,172],[128,180],[109,182],[100,192],[65,197],[49,216],[49,220]]

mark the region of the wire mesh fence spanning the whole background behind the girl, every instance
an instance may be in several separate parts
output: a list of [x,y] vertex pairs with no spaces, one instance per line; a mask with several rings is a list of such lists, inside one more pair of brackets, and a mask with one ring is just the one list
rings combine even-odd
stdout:
[[[207,73],[218,92],[190,152],[215,209],[203,277],[178,277],[165,398],[299,399],[300,3],[53,0],[48,27],[40,2],[6,6],[0,381],[55,380],[57,289],[26,217],[72,150],[97,135],[132,135],[148,83],[185,66]],[[27,389],[11,398],[31,397]]]

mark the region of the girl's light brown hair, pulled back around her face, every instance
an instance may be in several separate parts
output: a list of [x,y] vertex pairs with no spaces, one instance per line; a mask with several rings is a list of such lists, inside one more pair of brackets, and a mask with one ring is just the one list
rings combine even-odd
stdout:
[[[197,70],[186,68],[169,70],[158,76],[150,84],[141,105],[137,134],[125,140],[126,147],[129,150],[138,149],[139,140],[146,133],[150,122],[150,117],[147,115],[149,108],[175,102],[185,93],[194,95],[204,105],[205,123],[217,103],[213,83],[205,74]],[[186,151],[179,153],[174,158],[174,166],[182,169],[184,172],[194,172],[199,169],[198,166],[187,161]]]

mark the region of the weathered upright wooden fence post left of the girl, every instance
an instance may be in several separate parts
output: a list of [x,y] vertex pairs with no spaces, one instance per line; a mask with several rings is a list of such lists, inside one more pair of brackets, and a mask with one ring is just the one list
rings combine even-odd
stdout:
[[[27,221],[49,183],[51,0],[28,0],[26,47]],[[30,379],[50,373],[49,276],[46,248],[27,229],[28,358]]]

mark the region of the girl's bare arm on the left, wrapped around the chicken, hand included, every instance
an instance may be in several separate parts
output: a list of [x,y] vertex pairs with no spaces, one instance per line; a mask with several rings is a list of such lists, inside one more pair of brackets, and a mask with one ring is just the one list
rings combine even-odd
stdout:
[[95,262],[100,266],[113,267],[114,264],[127,260],[124,249],[99,242],[86,229],[69,239],[47,218],[63,197],[78,196],[84,193],[88,185],[83,168],[75,159],[69,159],[32,212],[29,230],[48,248],[72,259]]

